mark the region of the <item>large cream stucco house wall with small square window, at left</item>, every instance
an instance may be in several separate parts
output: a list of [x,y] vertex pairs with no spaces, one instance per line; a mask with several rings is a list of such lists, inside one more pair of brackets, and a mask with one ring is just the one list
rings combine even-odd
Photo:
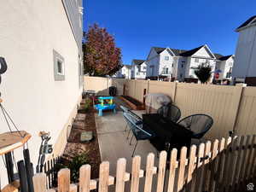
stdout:
[[[1,98],[18,128],[32,134],[28,146],[34,166],[38,132],[49,131],[52,155],[61,154],[81,101],[82,7],[82,0],[0,1],[0,56],[8,64]],[[1,133],[8,131],[2,113],[0,127]],[[20,157],[18,149],[15,158]],[[7,177],[2,160],[0,172],[3,187]]]

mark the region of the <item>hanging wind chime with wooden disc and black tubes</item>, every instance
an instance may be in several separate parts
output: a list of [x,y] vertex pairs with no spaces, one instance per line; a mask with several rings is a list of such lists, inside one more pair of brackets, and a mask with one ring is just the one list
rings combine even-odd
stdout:
[[[7,64],[3,57],[0,57],[0,84],[1,74],[7,70]],[[9,130],[4,133],[0,133],[0,156],[3,158],[4,166],[7,170],[7,177],[9,185],[3,189],[1,187],[0,176],[0,192],[9,191],[9,189],[20,189],[21,192],[33,192],[33,167],[30,160],[30,154],[28,150],[28,140],[31,135],[26,131],[19,131],[13,119],[11,119],[7,110],[3,107],[3,99],[0,93],[0,113],[3,113],[3,119],[6,122]],[[20,160],[16,163],[14,151],[17,148],[23,148],[24,160]],[[15,176],[14,166],[18,172],[20,181],[17,181]],[[1,172],[0,175],[3,176]],[[4,174],[5,175],[5,174]]]

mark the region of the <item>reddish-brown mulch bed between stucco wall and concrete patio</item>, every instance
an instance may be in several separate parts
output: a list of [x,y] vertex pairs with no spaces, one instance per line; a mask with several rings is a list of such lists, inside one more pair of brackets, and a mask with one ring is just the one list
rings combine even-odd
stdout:
[[[82,101],[81,103],[83,103]],[[70,135],[67,140],[67,146],[63,153],[63,158],[71,160],[76,154],[86,153],[91,166],[91,178],[99,176],[99,167],[101,164],[101,154],[96,133],[96,123],[94,109],[90,108],[86,113],[78,113],[73,122]],[[80,134],[82,131],[92,131],[93,140],[90,143],[80,143]]]

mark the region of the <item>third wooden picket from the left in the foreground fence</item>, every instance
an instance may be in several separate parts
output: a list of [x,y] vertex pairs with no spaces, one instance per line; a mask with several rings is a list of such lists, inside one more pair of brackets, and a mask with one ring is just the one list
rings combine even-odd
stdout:
[[90,192],[90,165],[80,167],[79,192]]

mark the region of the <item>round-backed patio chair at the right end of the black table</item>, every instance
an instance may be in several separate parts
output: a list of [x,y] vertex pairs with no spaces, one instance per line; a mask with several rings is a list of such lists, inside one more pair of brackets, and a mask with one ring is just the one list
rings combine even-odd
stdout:
[[192,138],[201,139],[213,125],[213,119],[207,114],[193,114],[177,122],[193,131]]

